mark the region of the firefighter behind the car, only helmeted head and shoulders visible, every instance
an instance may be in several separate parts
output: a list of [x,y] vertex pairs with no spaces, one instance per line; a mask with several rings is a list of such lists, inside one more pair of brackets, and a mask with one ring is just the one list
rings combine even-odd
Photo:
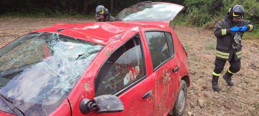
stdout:
[[95,13],[95,17],[97,17],[96,21],[98,22],[114,22],[115,18],[112,17],[108,9],[102,5],[96,7]]

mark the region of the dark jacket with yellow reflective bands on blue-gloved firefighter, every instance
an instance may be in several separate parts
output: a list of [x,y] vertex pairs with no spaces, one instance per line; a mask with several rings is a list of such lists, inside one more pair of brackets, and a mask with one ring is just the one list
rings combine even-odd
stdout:
[[[236,23],[232,22],[231,19],[228,18],[222,19],[219,22],[217,22],[217,25],[214,30],[214,34],[217,37],[216,58],[230,61],[232,56],[234,56],[236,61],[241,59],[242,45],[238,49],[233,49],[231,44],[232,35],[234,35],[231,35],[231,33],[235,33],[231,31],[231,28],[234,26],[247,26],[246,31],[253,31],[255,28],[253,22],[242,19]],[[244,32],[240,33],[242,38]],[[241,41],[239,43],[241,44]]]

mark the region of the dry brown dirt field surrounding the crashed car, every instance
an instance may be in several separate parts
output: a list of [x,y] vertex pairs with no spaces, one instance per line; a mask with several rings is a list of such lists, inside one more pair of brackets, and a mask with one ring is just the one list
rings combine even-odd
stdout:
[[[76,18],[0,18],[0,48],[32,30],[48,27],[56,22],[91,22]],[[241,70],[232,78],[234,86],[227,86],[222,76],[221,90],[214,92],[211,78],[214,69],[216,37],[212,31],[176,26],[174,29],[188,53],[191,86],[188,88],[186,110],[199,115],[259,115],[259,38],[242,40]],[[226,63],[225,70],[229,67]],[[199,101],[199,102],[198,102]]]

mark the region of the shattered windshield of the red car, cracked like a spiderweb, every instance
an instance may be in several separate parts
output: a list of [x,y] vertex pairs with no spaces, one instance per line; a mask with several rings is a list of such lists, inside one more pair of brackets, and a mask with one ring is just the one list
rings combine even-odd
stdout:
[[[58,33],[30,33],[0,49],[0,93],[25,115],[49,115],[103,48]],[[0,110],[14,113],[0,100]]]

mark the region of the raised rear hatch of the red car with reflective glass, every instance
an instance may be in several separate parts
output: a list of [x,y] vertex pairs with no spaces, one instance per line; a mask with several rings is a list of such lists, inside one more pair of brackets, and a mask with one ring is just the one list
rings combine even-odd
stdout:
[[115,21],[171,21],[182,9],[169,3],[139,4],[122,10]]

